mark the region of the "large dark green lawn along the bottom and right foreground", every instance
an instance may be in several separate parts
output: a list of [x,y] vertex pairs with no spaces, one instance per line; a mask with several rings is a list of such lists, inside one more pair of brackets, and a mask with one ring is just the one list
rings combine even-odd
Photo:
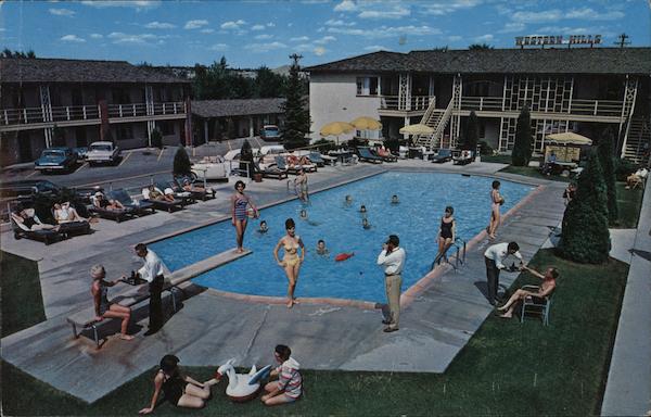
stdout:
[[[443,375],[304,370],[301,402],[265,408],[232,404],[225,382],[202,410],[169,404],[155,415],[597,415],[615,336],[628,266],[580,265],[539,251],[531,263],[561,271],[550,326],[490,316]],[[521,275],[513,288],[535,282]],[[318,352],[296,353],[298,359]],[[188,368],[208,379],[213,368]],[[151,369],[86,405],[2,364],[3,412],[9,415],[135,415],[149,404]]]

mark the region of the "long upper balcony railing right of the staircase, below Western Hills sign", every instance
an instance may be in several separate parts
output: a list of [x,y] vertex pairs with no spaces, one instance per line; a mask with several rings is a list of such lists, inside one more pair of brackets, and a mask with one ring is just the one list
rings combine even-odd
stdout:
[[[474,110],[484,112],[501,112],[502,111],[502,98],[501,97],[462,97],[461,98],[461,110]],[[553,106],[550,106],[547,111],[545,109],[533,109],[535,112],[549,112],[549,113],[565,113],[565,114],[580,114],[589,116],[621,116],[622,115],[622,102],[615,100],[579,100],[575,99],[570,102],[567,109],[562,111],[554,111]]]

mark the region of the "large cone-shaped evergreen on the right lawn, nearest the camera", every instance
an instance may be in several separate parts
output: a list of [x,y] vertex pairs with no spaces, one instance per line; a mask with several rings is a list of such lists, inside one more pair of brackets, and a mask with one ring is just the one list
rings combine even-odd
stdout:
[[569,260],[600,264],[608,261],[610,248],[607,187],[599,156],[592,151],[578,177],[576,195],[565,208],[559,250]]

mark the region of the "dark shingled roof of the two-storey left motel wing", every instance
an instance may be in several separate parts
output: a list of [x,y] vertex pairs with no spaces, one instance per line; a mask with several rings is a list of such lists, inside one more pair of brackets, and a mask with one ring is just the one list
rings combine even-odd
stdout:
[[60,59],[0,59],[2,83],[123,83],[176,84],[188,80],[126,61]]

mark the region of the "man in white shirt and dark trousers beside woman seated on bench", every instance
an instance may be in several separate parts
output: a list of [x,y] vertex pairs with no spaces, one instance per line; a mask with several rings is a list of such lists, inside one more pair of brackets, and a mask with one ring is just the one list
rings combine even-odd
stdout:
[[165,282],[165,264],[153,251],[148,250],[144,243],[136,245],[136,254],[144,260],[144,266],[138,269],[138,274],[150,286],[150,326],[144,336],[154,334],[163,327],[163,303],[161,292]]

